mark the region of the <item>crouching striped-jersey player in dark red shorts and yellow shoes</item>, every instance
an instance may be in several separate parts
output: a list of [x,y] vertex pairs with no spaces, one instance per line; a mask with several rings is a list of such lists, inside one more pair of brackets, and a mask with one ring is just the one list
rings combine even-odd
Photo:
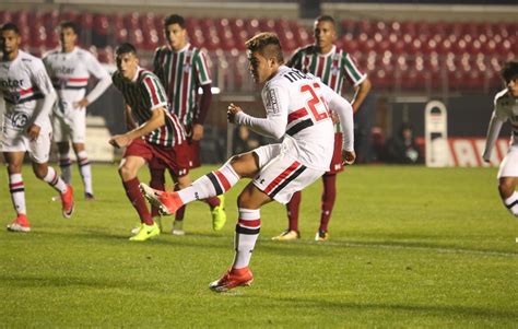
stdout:
[[125,98],[128,122],[136,122],[137,127],[111,137],[109,143],[126,148],[119,175],[141,221],[140,230],[130,240],[142,242],[158,235],[160,228],[139,190],[139,169],[151,161],[157,161],[181,180],[189,172],[189,150],[180,121],[169,111],[164,87],[155,74],[139,67],[133,45],[125,43],[115,54],[117,71],[113,75],[114,85]]

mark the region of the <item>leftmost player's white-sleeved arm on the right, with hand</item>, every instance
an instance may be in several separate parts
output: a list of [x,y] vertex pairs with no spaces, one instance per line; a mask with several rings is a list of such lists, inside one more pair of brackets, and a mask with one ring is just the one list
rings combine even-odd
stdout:
[[42,61],[36,62],[31,72],[33,84],[36,85],[44,95],[44,102],[39,108],[35,109],[34,119],[27,128],[28,138],[34,140],[39,136],[44,122],[49,119],[57,95]]

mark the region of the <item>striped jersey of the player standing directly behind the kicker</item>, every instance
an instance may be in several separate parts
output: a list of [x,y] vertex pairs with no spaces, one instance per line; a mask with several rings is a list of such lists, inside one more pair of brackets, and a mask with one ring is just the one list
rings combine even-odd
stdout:
[[[367,74],[358,69],[354,58],[342,49],[337,49],[334,45],[327,54],[319,54],[315,45],[298,48],[287,66],[320,78],[339,95],[341,95],[344,79],[356,86],[367,78]],[[340,125],[334,125],[334,129],[340,132]]]

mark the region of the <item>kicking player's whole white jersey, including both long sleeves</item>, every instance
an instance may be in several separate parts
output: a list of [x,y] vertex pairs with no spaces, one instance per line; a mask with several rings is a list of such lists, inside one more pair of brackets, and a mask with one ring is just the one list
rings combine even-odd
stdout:
[[238,113],[236,124],[270,137],[284,137],[282,152],[303,165],[329,171],[334,148],[330,109],[343,120],[344,150],[353,150],[352,107],[320,79],[282,66],[261,95],[267,118]]

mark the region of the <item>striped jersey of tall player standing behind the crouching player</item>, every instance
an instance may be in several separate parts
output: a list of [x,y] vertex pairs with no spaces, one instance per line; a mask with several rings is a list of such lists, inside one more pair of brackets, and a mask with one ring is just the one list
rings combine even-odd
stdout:
[[174,51],[169,46],[156,48],[153,71],[167,91],[173,111],[190,127],[198,115],[198,89],[212,82],[207,55],[187,44]]

